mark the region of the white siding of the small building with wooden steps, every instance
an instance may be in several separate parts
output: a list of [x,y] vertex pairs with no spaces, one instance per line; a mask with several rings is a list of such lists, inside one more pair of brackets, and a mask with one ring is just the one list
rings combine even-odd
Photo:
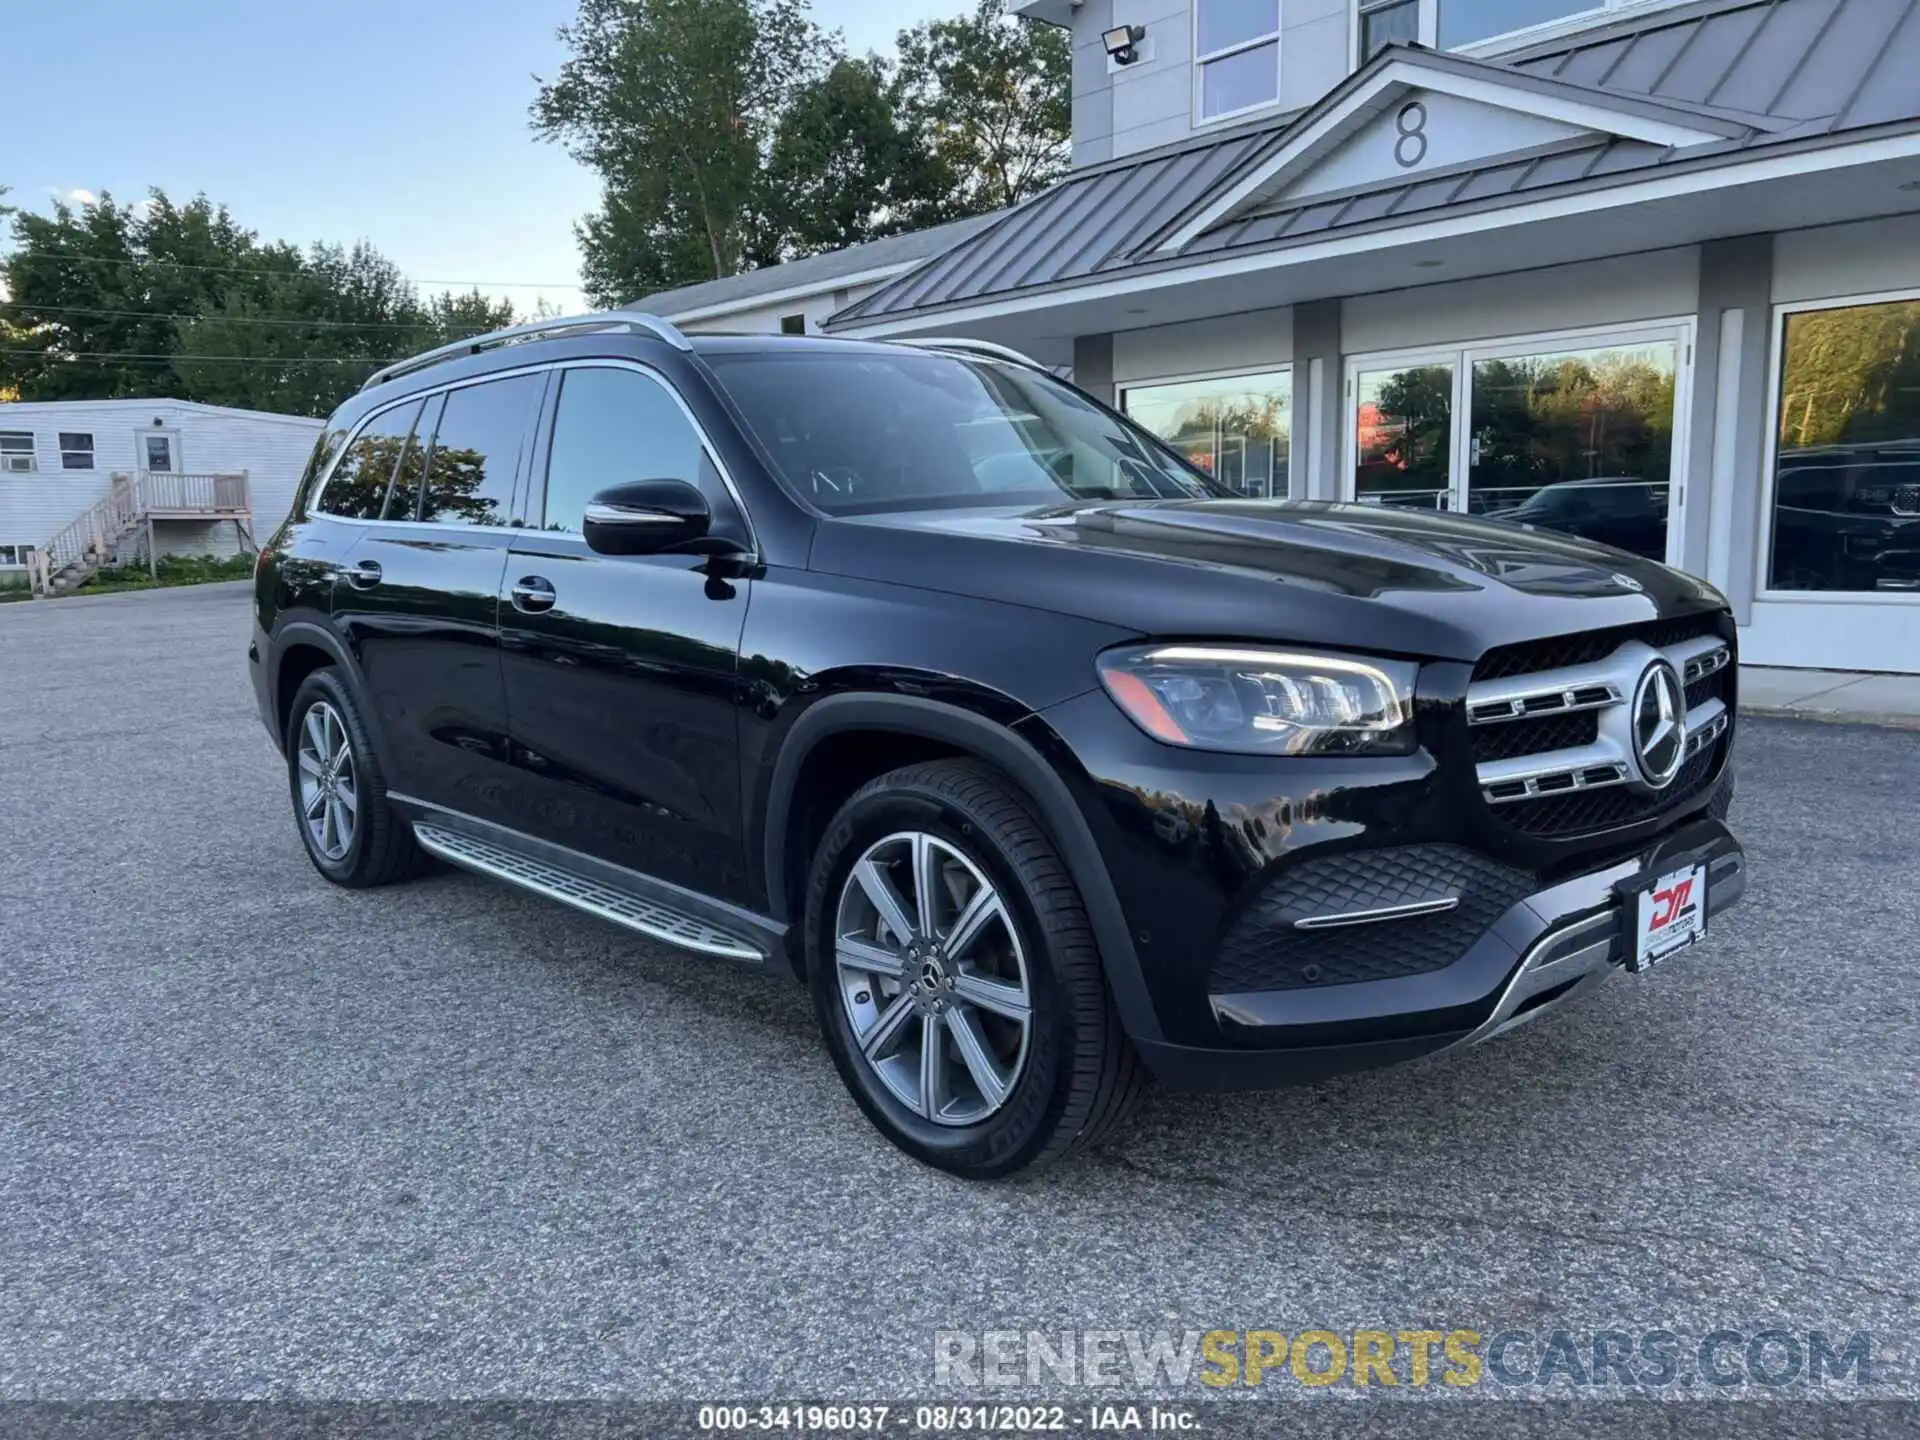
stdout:
[[[180,438],[175,461],[186,474],[248,472],[253,503],[253,536],[263,540],[286,518],[300,470],[321,432],[321,420],[298,415],[190,405],[177,399],[81,399],[63,403],[0,405],[0,430],[27,430],[35,438],[38,470],[0,474],[0,545],[44,545],[108,493],[115,470],[140,467],[136,434],[159,428]],[[60,434],[94,438],[94,468],[60,468]],[[207,526],[173,526],[161,549],[184,541],[186,549],[230,553],[232,526],[209,545],[200,543]]]

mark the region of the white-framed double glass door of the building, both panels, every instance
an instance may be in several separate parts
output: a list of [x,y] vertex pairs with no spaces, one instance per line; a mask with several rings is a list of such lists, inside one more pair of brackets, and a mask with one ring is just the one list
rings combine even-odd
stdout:
[[1688,351],[1672,324],[1357,359],[1346,493],[1676,563]]

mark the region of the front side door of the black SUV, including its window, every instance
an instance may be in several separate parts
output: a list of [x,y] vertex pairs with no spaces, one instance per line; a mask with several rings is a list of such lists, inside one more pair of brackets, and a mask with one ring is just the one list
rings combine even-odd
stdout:
[[[689,480],[747,540],[705,438],[651,371],[564,369],[501,584],[509,824],[722,900],[747,900],[735,685],[751,580],[703,555],[597,555],[586,503]],[[538,467],[536,467],[538,468]]]

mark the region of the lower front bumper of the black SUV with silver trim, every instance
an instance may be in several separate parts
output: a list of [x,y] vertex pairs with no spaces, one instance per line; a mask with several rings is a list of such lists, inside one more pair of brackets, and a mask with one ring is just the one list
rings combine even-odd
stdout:
[[1620,970],[1632,943],[1620,887],[1684,864],[1707,866],[1709,924],[1745,893],[1740,843],[1720,820],[1697,820],[1515,902],[1452,964],[1321,989],[1210,995],[1225,1044],[1135,1043],[1162,1081],[1202,1091],[1311,1081],[1476,1044]]

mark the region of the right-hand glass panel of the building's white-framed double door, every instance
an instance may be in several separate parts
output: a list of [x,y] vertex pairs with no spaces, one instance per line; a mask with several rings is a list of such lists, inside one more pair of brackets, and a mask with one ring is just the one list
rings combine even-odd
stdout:
[[1678,361],[1676,340],[1475,359],[1465,509],[1665,561]]

